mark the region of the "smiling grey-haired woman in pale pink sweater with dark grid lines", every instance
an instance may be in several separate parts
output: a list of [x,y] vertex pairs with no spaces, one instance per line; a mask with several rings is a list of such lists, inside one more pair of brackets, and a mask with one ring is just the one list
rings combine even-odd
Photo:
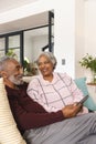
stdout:
[[[40,75],[32,79],[28,86],[28,94],[40,103],[47,112],[56,112],[78,102],[83,93],[66,73],[56,73],[56,59],[51,52],[42,52],[36,61]],[[81,113],[88,113],[83,107]]]

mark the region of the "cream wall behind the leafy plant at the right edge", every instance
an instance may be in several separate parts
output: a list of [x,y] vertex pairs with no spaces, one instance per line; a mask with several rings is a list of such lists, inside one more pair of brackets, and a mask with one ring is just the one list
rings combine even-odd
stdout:
[[82,68],[78,61],[89,53],[96,56],[96,0],[76,1],[76,76],[92,80],[90,71]]

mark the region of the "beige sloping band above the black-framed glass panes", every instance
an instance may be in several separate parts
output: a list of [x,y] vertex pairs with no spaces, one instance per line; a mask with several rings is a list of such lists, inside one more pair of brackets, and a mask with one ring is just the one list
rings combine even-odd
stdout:
[[46,11],[40,14],[0,24],[0,34],[41,27],[47,24],[47,21],[49,21],[49,12]]

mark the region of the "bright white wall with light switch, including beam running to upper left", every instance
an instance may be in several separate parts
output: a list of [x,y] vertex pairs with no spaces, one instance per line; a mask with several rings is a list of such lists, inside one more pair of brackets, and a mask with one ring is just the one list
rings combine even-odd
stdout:
[[[56,71],[66,71],[75,76],[75,0],[39,0],[25,7],[0,13],[0,23],[10,22],[28,16],[54,9],[54,53],[57,58]],[[65,65],[62,65],[65,59]]]

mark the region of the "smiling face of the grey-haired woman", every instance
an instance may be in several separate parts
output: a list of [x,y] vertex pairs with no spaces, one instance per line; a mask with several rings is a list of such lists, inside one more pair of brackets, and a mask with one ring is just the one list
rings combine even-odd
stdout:
[[41,71],[43,76],[50,76],[53,72],[53,63],[45,55],[40,56],[39,59],[39,70]]

